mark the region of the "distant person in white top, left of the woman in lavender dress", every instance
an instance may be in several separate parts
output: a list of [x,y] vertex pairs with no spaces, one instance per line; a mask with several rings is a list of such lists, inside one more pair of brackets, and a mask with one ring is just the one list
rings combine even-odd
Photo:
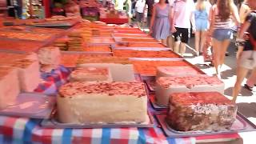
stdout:
[[143,17],[144,17],[144,7],[145,7],[145,0],[138,0],[135,5],[136,11],[136,22],[138,26],[142,26]]

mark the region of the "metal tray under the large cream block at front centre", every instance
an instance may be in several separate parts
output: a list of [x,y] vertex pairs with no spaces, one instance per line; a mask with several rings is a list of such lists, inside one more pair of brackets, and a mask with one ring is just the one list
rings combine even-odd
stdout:
[[154,126],[153,116],[148,112],[148,122],[142,123],[86,123],[86,124],[74,124],[74,123],[61,123],[57,120],[57,110],[53,110],[50,119],[43,119],[41,122],[42,127],[46,128],[74,128],[74,129],[91,129],[91,128],[120,128],[120,127],[143,127],[149,128]]

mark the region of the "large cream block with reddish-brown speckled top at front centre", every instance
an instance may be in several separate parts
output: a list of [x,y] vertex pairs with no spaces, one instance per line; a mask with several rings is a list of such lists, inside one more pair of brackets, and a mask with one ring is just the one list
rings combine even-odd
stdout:
[[70,82],[57,97],[58,120],[67,123],[148,122],[142,82]]

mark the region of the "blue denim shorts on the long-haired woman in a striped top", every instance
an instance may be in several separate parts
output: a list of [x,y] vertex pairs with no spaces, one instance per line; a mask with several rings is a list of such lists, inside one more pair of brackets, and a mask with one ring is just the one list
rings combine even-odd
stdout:
[[213,38],[217,39],[218,41],[232,39],[233,31],[230,29],[216,29],[214,30]]

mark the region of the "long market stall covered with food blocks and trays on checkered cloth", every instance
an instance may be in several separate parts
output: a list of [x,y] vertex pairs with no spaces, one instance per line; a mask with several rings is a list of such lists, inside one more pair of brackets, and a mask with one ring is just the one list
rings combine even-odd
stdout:
[[[0,37],[2,38],[0,41],[0,56],[2,55],[0,76],[6,79],[12,78],[11,81],[5,82],[13,82],[13,87],[15,82],[15,86],[17,85],[17,90],[14,90],[16,93],[10,94],[8,97],[14,98],[12,102],[8,102],[6,99],[0,101],[0,142],[241,142],[238,132],[256,129],[253,123],[239,112],[237,113],[234,103],[222,96],[224,87],[218,78],[207,76],[202,70],[154,39],[141,38],[141,35],[146,35],[142,31],[136,28],[108,26],[104,22],[83,20],[74,25],[68,30],[60,30],[61,34],[55,29],[31,26],[25,26],[25,29],[22,30],[0,30]],[[10,29],[10,27],[7,28]],[[45,30],[52,30],[52,33],[43,35],[42,38],[31,34],[45,34]],[[104,37],[102,37],[103,35]],[[13,41],[13,39],[18,40]],[[51,40],[47,41],[47,39]],[[28,40],[33,42],[26,42]],[[14,43],[7,46],[6,42]],[[41,42],[46,43],[41,46]],[[36,57],[29,52],[36,52],[34,53]],[[3,67],[10,68],[3,70]],[[16,70],[18,72],[15,72]],[[31,74],[26,74],[28,70]],[[174,76],[175,70],[176,73],[180,73],[179,76]],[[22,74],[26,77],[19,78],[18,75]],[[91,75],[84,76],[85,74]],[[162,82],[161,77],[164,74],[168,77]],[[80,77],[77,77],[78,75]],[[27,80],[39,78],[39,76],[40,79],[37,81],[30,82]],[[84,82],[89,81],[89,77],[98,78],[97,81],[102,82]],[[101,79],[99,80],[99,78]],[[78,80],[79,82],[74,82]],[[24,83],[21,85],[22,90],[18,89],[18,81]],[[2,83],[5,82],[2,81]],[[0,81],[0,85],[2,83]],[[221,116],[224,115],[224,119],[228,119],[225,123],[228,123],[229,127],[223,130],[194,130],[191,126],[191,130],[175,130],[174,127],[165,122],[165,119],[170,117],[167,113],[170,109],[168,106],[159,105],[159,102],[166,102],[158,99],[161,98],[161,95],[165,95],[160,94],[159,96],[159,89],[166,85],[170,85],[170,87],[167,86],[168,89],[176,90],[176,92],[185,92],[186,90],[190,92],[196,89],[194,92],[199,93],[198,95],[202,94],[200,92],[203,90],[219,91],[217,97],[226,103],[221,103],[218,106],[229,106],[229,114],[221,114]],[[175,86],[182,88],[174,89]],[[10,89],[14,88],[2,88],[4,93],[0,95],[0,98],[6,98],[6,95],[3,94],[9,94],[8,90]],[[163,91],[167,94],[170,93],[168,90],[160,90],[160,93]],[[89,96],[94,93],[102,94],[102,98],[106,98],[105,101],[101,101],[101,98],[94,102],[89,101],[89,99],[85,101],[79,99],[79,95],[74,97],[76,94]],[[122,94],[129,97],[126,99],[126,97],[122,97]],[[90,97],[94,96],[90,95]],[[190,97],[196,96],[191,93]],[[216,99],[217,101],[218,99]],[[55,106],[56,102],[57,107]],[[104,104],[96,104],[97,102]],[[184,100],[184,102],[186,101]],[[6,106],[6,104],[9,105]],[[61,106],[64,106],[63,109],[66,110],[63,111]],[[83,106],[89,107],[84,108]],[[104,117],[93,117],[98,106],[105,107],[100,107],[101,110],[97,109],[97,114],[109,114]],[[123,110],[123,112],[111,112],[111,110],[122,110],[123,106],[127,106],[128,109]],[[95,110],[90,110],[92,108]],[[70,111],[66,112],[68,110]],[[81,110],[90,110],[90,112],[83,114]],[[180,114],[184,114],[182,112],[184,111],[181,111]],[[190,110],[185,110],[186,112],[190,112]],[[74,115],[70,117],[68,114],[71,113]],[[60,117],[60,115],[62,116]],[[109,118],[110,115],[113,117]],[[130,115],[133,117],[129,118]],[[145,117],[142,117],[143,115]],[[86,122],[90,120],[86,118],[90,117],[94,122]],[[126,122],[123,119],[121,122],[116,122],[118,118],[127,118],[128,121],[132,122]],[[202,120],[202,117],[200,118],[198,121]],[[134,119],[138,122],[134,122]],[[211,125],[213,123],[206,122],[204,124]],[[222,123],[218,126],[221,127]]]

